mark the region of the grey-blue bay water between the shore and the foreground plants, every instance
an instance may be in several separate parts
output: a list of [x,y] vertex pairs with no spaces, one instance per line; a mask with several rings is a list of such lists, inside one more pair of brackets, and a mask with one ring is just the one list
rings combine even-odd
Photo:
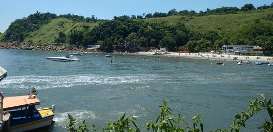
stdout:
[[[79,62],[46,59],[68,53],[0,49],[0,66],[8,71],[0,82],[4,96],[27,95],[35,87],[41,107],[56,105],[56,122],[45,131],[68,131],[67,114],[101,131],[124,113],[138,116],[136,123],[143,130],[146,122],[156,121],[163,100],[168,100],[174,117],[180,112],[190,125],[200,112],[204,131],[229,129],[249,101],[261,99],[251,91],[267,97],[273,93],[273,67],[266,65],[226,61],[222,66],[217,60],[137,54],[106,58],[104,53],[83,53],[76,56]],[[257,127],[265,119],[266,111],[241,130],[261,131]]]

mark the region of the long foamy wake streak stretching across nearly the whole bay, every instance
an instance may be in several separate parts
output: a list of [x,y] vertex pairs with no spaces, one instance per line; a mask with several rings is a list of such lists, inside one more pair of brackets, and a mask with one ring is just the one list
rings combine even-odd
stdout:
[[[261,75],[262,76],[262,75]],[[264,76],[264,75],[263,75]],[[58,87],[73,87],[79,85],[116,85],[133,83],[178,83],[178,84],[211,84],[223,82],[253,82],[247,73],[218,73],[218,74],[128,74],[124,76],[101,76],[98,74],[77,74],[68,76],[10,76],[2,80],[1,88],[7,89],[50,89]],[[254,79],[255,80],[255,79]]]

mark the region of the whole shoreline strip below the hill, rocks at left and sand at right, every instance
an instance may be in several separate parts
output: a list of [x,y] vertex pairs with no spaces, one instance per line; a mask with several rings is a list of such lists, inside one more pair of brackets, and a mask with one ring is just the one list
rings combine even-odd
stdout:
[[[64,45],[23,45],[22,43],[13,42],[8,44],[0,43],[0,49],[18,49],[18,50],[42,50],[42,51],[80,51],[80,52],[102,52],[99,50],[90,50],[84,48],[76,48],[71,46]],[[118,52],[113,52],[118,53]],[[147,51],[147,52],[130,52],[129,54],[138,54],[138,55],[153,55],[155,51]],[[273,63],[272,56],[246,56],[246,55],[228,55],[228,54],[212,54],[209,52],[206,53],[182,53],[182,52],[168,52],[167,54],[159,54],[161,56],[174,56],[177,58],[199,58],[199,59],[209,59],[216,61],[239,61],[243,62],[261,62],[261,63]],[[158,56],[159,56],[158,55]],[[236,60],[233,60],[234,57],[237,57]],[[258,57],[258,59],[257,59]]]

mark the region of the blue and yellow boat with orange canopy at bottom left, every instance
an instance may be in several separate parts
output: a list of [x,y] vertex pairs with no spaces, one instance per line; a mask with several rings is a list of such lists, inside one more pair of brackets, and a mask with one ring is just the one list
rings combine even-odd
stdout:
[[[36,108],[40,101],[35,96],[37,90],[33,88],[30,95],[5,97],[3,99],[4,119],[7,119],[8,129],[10,132],[30,131],[49,128],[54,122],[54,109]],[[4,96],[3,96],[4,97]]]

